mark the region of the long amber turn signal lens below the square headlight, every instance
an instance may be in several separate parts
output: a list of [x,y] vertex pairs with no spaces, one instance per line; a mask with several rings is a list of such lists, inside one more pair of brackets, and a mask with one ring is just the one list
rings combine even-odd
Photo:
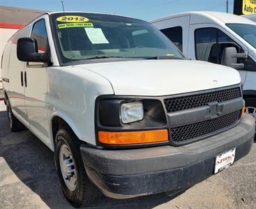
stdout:
[[102,144],[148,144],[168,141],[167,130],[149,130],[137,132],[98,132],[98,141]]

